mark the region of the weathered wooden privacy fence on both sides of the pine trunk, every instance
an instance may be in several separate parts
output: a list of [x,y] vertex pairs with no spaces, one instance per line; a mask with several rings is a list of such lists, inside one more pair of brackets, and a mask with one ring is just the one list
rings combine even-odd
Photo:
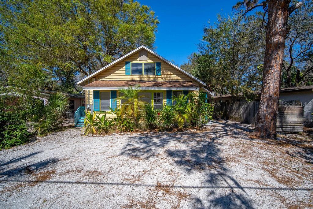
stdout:
[[[226,119],[240,123],[255,124],[259,102],[222,102],[214,104],[215,119]],[[277,131],[302,132],[303,106],[279,105]]]

